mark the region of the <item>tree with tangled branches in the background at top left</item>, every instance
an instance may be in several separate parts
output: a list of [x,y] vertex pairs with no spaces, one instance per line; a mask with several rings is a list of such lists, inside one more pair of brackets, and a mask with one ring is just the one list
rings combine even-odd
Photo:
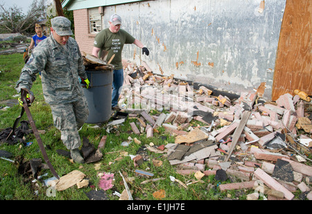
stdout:
[[17,6],[6,9],[0,4],[0,33],[27,33],[42,19],[46,19],[46,0],[33,0],[26,15]]

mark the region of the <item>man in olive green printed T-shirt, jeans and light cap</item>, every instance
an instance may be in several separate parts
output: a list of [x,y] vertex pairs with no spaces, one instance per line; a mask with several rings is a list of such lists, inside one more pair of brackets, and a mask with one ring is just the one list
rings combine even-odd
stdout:
[[94,47],[92,55],[98,58],[105,56],[107,61],[112,58],[110,64],[114,65],[113,90],[112,90],[112,110],[120,110],[118,106],[118,99],[123,86],[123,63],[121,52],[124,44],[135,44],[142,49],[142,53],[148,56],[149,51],[137,39],[133,38],[128,32],[121,29],[121,17],[119,15],[112,15],[110,17],[110,27],[105,28],[94,38]]

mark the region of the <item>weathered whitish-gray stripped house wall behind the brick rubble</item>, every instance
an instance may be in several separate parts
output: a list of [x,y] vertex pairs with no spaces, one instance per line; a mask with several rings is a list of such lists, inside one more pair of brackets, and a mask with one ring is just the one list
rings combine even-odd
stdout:
[[266,1],[262,13],[260,4],[261,0],[141,1],[106,6],[103,23],[107,27],[110,15],[121,15],[122,28],[150,50],[150,56],[143,56],[135,45],[125,45],[123,58],[146,61],[156,74],[162,69],[166,76],[237,94],[266,82],[264,96],[270,98],[286,0]]

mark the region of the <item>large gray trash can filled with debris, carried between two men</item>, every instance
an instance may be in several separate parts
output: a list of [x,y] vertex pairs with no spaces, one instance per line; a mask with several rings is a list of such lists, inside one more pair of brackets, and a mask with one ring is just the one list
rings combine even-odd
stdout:
[[112,114],[113,71],[86,70],[90,81],[89,88],[83,88],[89,106],[88,124],[97,124],[110,120]]

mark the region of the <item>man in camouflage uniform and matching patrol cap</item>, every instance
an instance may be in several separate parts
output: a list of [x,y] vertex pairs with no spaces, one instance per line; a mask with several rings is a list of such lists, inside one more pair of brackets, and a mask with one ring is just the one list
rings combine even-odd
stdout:
[[30,92],[36,74],[42,72],[42,90],[51,106],[54,126],[61,131],[64,145],[76,163],[84,163],[80,155],[78,130],[83,126],[89,110],[80,79],[87,80],[83,57],[76,40],[69,36],[71,22],[65,17],[51,19],[51,36],[40,42],[28,63],[21,70],[16,89]]

